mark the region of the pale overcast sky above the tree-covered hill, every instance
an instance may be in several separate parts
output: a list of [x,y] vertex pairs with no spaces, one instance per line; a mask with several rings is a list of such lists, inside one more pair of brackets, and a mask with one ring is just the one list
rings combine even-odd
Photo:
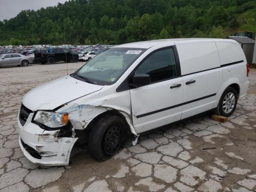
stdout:
[[38,10],[67,0],[0,0],[0,21],[15,17],[22,10]]

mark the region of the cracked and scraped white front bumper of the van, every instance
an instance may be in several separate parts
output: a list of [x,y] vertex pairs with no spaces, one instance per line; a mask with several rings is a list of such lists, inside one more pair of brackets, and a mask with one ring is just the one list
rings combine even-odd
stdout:
[[26,158],[45,166],[68,165],[71,150],[78,138],[58,138],[59,130],[47,131],[33,124],[33,115],[28,116],[24,126],[18,120],[20,148]]

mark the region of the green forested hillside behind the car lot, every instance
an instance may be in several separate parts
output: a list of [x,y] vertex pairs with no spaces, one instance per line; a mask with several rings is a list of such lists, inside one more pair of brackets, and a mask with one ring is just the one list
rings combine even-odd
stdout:
[[256,32],[255,0],[70,0],[0,21],[0,45],[120,44]]

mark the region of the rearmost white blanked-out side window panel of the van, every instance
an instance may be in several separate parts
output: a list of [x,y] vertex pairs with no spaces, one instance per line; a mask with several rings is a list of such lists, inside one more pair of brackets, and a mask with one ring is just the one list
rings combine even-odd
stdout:
[[232,42],[216,42],[220,55],[220,64],[225,65],[244,60],[244,52],[240,46]]

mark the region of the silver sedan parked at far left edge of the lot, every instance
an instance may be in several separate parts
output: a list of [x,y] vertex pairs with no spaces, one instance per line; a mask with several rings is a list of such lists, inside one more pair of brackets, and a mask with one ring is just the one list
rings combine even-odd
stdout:
[[28,64],[32,64],[33,59],[29,56],[24,56],[18,53],[12,54],[1,54],[0,55],[0,67],[7,66],[28,66]]

